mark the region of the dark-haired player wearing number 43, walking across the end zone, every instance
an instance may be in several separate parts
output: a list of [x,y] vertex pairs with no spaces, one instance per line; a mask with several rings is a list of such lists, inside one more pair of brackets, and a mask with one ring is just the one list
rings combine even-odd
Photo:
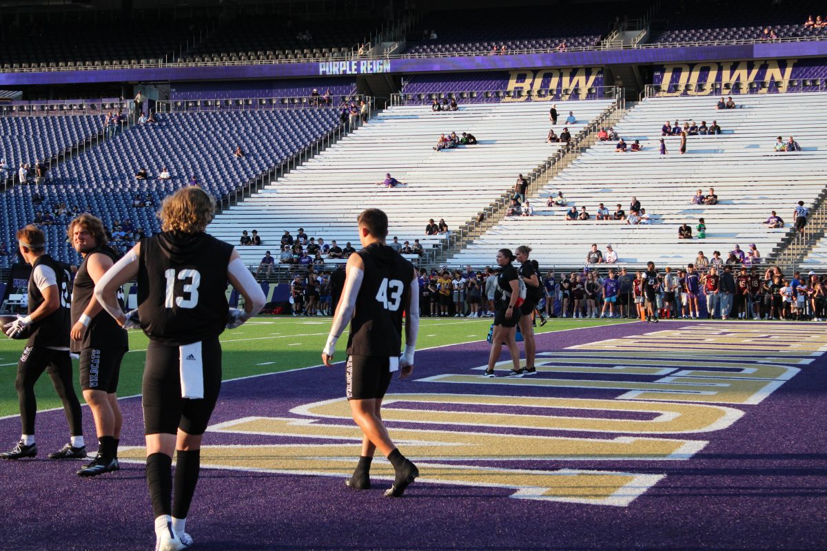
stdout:
[[[370,208],[358,218],[362,249],[347,259],[342,300],[333,318],[322,361],[332,367],[336,342],[347,324],[347,400],[356,425],[364,435],[361,457],[347,486],[370,488],[370,462],[377,448],[394,466],[394,483],[385,496],[402,496],[419,476],[409,459],[399,453],[382,424],[382,398],[391,374],[399,378],[414,370],[414,349],[419,327],[419,282],[414,265],[385,245],[388,216]],[[405,347],[402,351],[402,316],[405,316]],[[401,353],[401,357],[400,357]]]

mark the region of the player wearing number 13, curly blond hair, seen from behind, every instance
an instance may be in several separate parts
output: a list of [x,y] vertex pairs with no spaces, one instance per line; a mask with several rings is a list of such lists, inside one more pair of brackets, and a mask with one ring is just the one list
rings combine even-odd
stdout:
[[[156,550],[193,544],[186,519],[198,482],[201,439],[221,390],[218,335],[265,303],[232,245],[206,233],[214,214],[215,200],[202,188],[180,188],[161,206],[163,231],[135,245],[95,285],[95,299],[118,324],[140,326],[150,338],[142,401]],[[133,278],[138,308],[125,314],[117,288]],[[243,311],[227,306],[227,280],[245,298]]]

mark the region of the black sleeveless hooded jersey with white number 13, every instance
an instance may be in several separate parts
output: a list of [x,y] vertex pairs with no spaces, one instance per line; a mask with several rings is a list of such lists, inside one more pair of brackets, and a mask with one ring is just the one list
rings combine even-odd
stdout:
[[141,240],[138,315],[146,336],[190,344],[227,325],[227,266],[232,245],[206,233],[164,232]]

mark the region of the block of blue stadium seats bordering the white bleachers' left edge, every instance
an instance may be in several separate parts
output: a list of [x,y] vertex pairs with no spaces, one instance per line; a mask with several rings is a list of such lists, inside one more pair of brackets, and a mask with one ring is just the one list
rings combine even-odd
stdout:
[[[155,208],[133,207],[136,195],[142,199],[148,195],[157,207],[194,176],[215,197],[223,197],[339,124],[337,110],[326,108],[170,113],[158,118],[156,124],[133,126],[54,165],[44,185],[16,186],[0,194],[0,211],[5,215],[0,240],[12,249],[17,228],[33,221],[36,212],[52,211],[61,203],[88,210],[109,227],[129,220],[136,230],[155,233],[160,230]],[[39,135],[33,138],[39,139]],[[236,146],[244,151],[243,158],[233,156]],[[163,168],[169,170],[170,180],[158,179]],[[138,169],[147,169],[150,178],[137,180]],[[77,260],[64,242],[69,220],[70,216],[57,217],[49,229],[50,239],[56,240],[50,241],[56,258],[67,262]],[[128,245],[124,242],[121,248]],[[8,261],[2,258],[0,265]]]

